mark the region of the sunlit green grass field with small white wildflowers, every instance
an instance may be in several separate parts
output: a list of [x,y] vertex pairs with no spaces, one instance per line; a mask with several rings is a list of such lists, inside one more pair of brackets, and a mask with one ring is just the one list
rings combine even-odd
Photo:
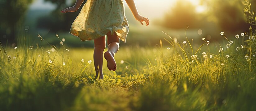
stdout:
[[168,36],[156,47],[121,47],[115,72],[104,60],[104,80],[94,79],[91,48],[23,40],[1,47],[0,110],[256,110],[256,41],[249,36],[233,37],[229,47],[206,39],[190,47]]

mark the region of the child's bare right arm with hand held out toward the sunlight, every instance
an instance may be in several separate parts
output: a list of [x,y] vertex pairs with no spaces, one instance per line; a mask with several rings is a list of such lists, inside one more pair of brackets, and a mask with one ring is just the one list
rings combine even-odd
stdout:
[[125,0],[127,5],[129,6],[134,18],[136,20],[138,20],[142,25],[143,25],[143,21],[145,21],[145,23],[147,23],[147,26],[149,25],[149,18],[143,17],[139,14],[136,5],[134,3],[134,0]]

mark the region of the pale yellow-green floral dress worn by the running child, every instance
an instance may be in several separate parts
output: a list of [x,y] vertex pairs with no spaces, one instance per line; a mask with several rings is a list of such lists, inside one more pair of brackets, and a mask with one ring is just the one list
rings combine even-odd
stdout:
[[87,0],[72,23],[70,33],[81,41],[98,39],[109,31],[126,42],[129,25],[123,0]]

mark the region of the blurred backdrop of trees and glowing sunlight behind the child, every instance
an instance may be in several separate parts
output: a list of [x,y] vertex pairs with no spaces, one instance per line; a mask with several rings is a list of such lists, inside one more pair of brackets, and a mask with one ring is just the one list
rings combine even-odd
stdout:
[[[70,47],[93,47],[93,41],[82,42],[69,33],[71,24],[80,9],[72,13],[61,13],[64,8],[74,6],[76,0],[0,0],[0,40],[2,44],[15,47],[18,38],[27,36],[31,44],[40,43],[40,34],[51,44],[59,44],[65,38]],[[125,1],[124,1],[125,2]],[[256,0],[250,0],[256,4]],[[159,39],[168,38],[162,31],[180,42],[187,37],[194,43],[202,43],[205,37],[211,42],[248,31],[241,0],[135,0],[139,14],[150,19],[143,26],[133,18],[125,3],[125,15],[130,25],[126,43],[121,45],[154,46]],[[256,9],[256,6],[251,6]]]

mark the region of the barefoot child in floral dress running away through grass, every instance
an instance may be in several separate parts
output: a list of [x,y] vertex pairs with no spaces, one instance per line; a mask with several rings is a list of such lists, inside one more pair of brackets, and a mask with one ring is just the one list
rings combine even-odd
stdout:
[[[84,0],[76,0],[75,6],[62,10],[62,13],[74,12],[79,9]],[[126,0],[135,19],[142,25],[149,25],[149,19],[141,16],[135,6],[134,0]],[[117,64],[114,55],[119,50],[119,39],[126,42],[129,25],[124,15],[123,0],[87,0],[82,10],[73,22],[70,33],[79,37],[81,41],[94,39],[94,67],[97,79],[103,79],[102,64],[103,51],[106,47],[105,35],[107,35],[107,51],[104,57],[107,60],[107,68],[116,71]]]

